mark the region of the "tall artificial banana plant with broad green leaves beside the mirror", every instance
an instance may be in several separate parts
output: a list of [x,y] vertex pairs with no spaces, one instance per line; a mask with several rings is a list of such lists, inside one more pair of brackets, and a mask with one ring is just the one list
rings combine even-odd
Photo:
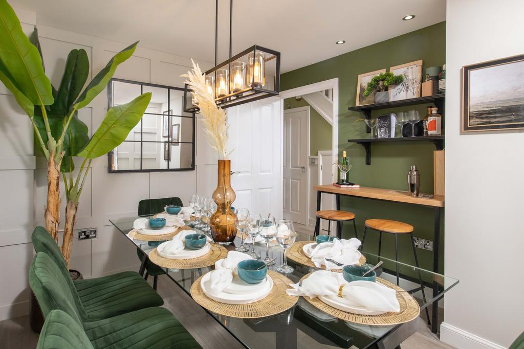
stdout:
[[[109,109],[91,140],[88,127],[78,118],[78,110],[105,89],[117,65],[131,57],[137,43],[115,54],[85,88],[88,55],[82,49],[72,50],[56,89],[45,74],[37,30],[28,38],[13,9],[6,0],[0,0],[0,81],[29,117],[37,148],[46,158],[48,187],[44,218],[46,229],[57,243],[62,173],[68,204],[61,249],[68,266],[76,209],[89,165],[92,159],[107,153],[127,137],[144,114],[151,95],[143,94],[130,103]],[[73,156],[77,155],[83,156],[84,161],[73,181]]]

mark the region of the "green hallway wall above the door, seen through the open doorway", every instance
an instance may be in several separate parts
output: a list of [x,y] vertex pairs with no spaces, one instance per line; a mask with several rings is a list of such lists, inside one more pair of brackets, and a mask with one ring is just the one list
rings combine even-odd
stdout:
[[284,99],[284,109],[309,106],[309,154],[318,155],[319,150],[331,150],[333,147],[333,128],[308,102],[294,97]]

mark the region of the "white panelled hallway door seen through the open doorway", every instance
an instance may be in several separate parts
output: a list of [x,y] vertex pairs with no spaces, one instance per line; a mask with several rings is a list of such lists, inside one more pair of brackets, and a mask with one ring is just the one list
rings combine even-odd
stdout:
[[284,110],[283,216],[307,224],[309,107]]

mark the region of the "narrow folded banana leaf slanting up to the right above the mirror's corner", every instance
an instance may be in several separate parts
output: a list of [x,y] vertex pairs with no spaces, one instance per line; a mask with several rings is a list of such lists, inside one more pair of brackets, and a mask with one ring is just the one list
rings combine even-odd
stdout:
[[[1,0],[0,0],[1,1]],[[73,106],[75,109],[80,109],[91,103],[93,98],[95,98],[99,93],[103,91],[107,83],[111,80],[115,74],[116,67],[118,64],[124,62],[135,52],[138,41],[134,44],[126,47],[122,51],[118,52],[113,56],[113,58],[107,63],[107,65],[102,69],[96,76],[91,80],[88,87],[84,89],[80,97],[78,97],[77,102]]]

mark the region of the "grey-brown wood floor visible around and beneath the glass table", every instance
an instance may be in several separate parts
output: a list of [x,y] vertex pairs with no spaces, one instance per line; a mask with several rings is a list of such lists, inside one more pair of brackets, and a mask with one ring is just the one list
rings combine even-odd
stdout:
[[[152,278],[149,280],[152,282]],[[158,293],[164,299],[164,307],[173,312],[184,327],[195,337],[205,349],[236,349],[243,348],[234,337],[218,322],[198,306],[190,296],[179,287],[173,287],[167,276],[158,280]],[[331,346],[312,343],[308,336],[298,334],[299,347],[302,348],[332,348]],[[21,349],[35,348],[38,334],[29,328],[29,317],[23,316],[0,321],[0,348]],[[259,343],[257,347],[266,348],[273,343]],[[355,347],[353,347],[355,348]],[[352,348],[352,349],[353,349]],[[448,349],[451,346],[438,340],[422,318],[419,318],[419,330],[402,343],[402,349]]]

